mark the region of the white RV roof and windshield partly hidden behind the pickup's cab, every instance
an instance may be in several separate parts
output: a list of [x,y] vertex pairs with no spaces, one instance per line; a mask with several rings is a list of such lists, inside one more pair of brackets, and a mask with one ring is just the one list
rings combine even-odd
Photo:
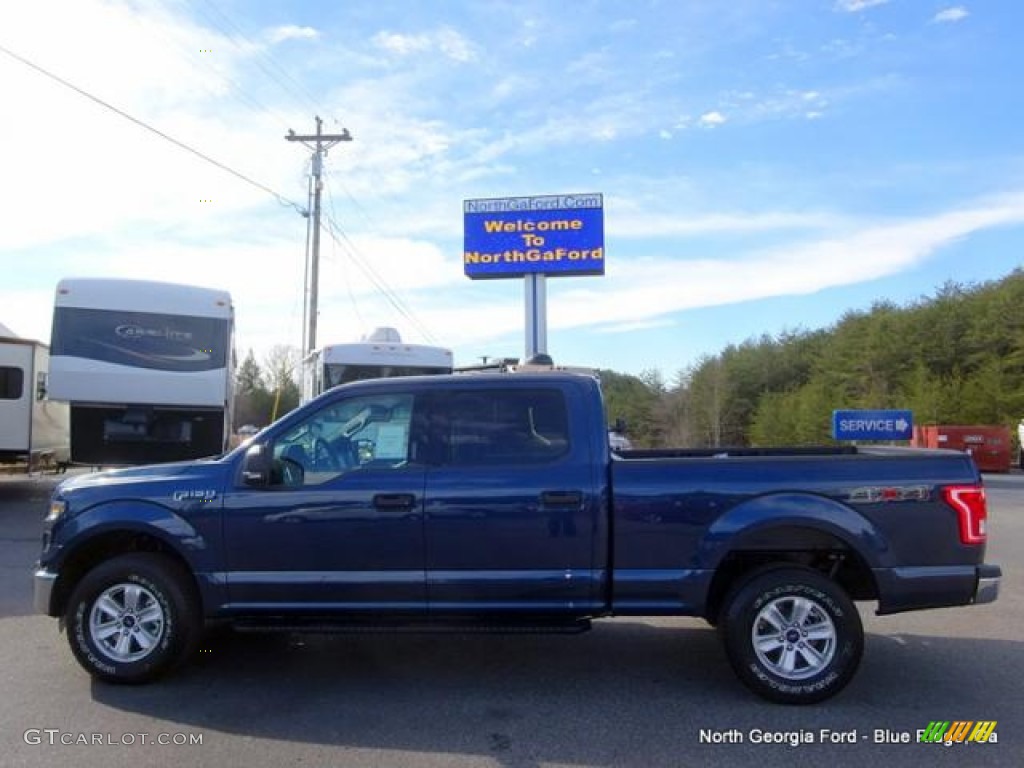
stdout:
[[302,401],[364,379],[452,373],[452,350],[407,344],[393,328],[378,328],[350,344],[314,349],[302,360]]

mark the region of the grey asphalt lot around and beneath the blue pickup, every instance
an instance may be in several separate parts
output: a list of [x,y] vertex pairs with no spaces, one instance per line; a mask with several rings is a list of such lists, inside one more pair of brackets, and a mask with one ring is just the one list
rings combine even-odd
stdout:
[[[857,677],[805,708],[749,693],[715,632],[681,618],[568,637],[220,632],[158,684],[95,683],[32,612],[59,479],[0,477],[0,766],[863,768],[1024,754],[1024,475],[986,476],[999,599],[884,617],[864,604]],[[997,741],[918,743],[936,720],[996,721]]]

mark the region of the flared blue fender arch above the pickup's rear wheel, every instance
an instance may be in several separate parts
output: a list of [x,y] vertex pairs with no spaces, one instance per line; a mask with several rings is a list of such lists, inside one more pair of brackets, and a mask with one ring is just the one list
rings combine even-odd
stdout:
[[786,529],[803,531],[793,546],[812,544],[815,534],[839,539],[874,568],[889,543],[883,532],[856,510],[815,494],[770,494],[737,504],[717,518],[697,547],[701,568],[714,570],[730,553],[749,549],[784,549]]

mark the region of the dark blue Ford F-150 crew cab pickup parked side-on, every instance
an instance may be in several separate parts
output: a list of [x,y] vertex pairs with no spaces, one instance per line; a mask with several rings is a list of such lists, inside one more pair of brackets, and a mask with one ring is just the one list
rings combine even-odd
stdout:
[[332,389],[210,460],[54,492],[37,608],[95,677],[143,682],[204,627],[578,632],[700,616],[739,679],[819,701],[879,613],[985,603],[970,457],[899,449],[612,452],[562,372]]

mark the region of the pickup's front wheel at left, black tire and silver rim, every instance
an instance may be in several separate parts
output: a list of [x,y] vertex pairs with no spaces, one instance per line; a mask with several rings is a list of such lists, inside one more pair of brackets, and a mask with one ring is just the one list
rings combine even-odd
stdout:
[[75,658],[111,683],[155,680],[195,650],[202,611],[195,585],[165,555],[120,555],[86,573],[65,613]]

